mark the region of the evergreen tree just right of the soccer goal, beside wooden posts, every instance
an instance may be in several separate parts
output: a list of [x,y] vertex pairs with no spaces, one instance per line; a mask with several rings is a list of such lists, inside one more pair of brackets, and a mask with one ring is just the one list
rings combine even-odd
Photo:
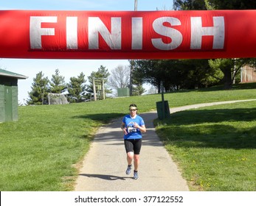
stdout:
[[82,102],[86,94],[86,79],[83,72],[78,77],[70,77],[70,82],[67,85],[68,88],[68,100],[69,102]]

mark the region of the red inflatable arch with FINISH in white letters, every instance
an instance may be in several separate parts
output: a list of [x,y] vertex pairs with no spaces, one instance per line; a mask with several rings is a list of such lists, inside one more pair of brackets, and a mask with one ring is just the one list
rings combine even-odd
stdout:
[[0,57],[256,57],[256,11],[0,11]]

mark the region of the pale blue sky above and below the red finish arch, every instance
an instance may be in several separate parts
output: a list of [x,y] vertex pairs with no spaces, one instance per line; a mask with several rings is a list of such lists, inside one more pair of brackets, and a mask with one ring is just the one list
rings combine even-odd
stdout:
[[[173,0],[137,0],[137,10],[172,10]],[[8,0],[1,1],[0,10],[134,10],[134,0]],[[89,77],[103,65],[108,71],[118,65],[129,65],[128,60],[38,60],[0,58],[0,68],[22,74],[28,79],[18,80],[18,102],[24,104],[29,98],[33,78],[43,71],[44,77],[52,78],[55,70],[69,82],[70,77],[77,77],[81,72]]]

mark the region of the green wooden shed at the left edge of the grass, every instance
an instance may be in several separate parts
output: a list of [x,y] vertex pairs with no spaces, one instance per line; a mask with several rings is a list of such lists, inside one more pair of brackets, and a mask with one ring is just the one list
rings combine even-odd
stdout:
[[27,78],[0,68],[0,122],[18,121],[18,79]]

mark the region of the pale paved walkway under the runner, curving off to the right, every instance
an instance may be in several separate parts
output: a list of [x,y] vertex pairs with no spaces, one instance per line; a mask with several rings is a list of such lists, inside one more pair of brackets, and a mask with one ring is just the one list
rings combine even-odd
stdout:
[[[170,108],[170,113],[255,100],[193,104]],[[139,179],[132,178],[133,172],[130,175],[125,174],[127,163],[120,129],[122,118],[118,118],[98,130],[83,160],[75,191],[189,191],[179,168],[156,135],[153,127],[153,119],[157,118],[156,112],[143,113],[140,116],[145,120],[147,132],[143,134]]]

